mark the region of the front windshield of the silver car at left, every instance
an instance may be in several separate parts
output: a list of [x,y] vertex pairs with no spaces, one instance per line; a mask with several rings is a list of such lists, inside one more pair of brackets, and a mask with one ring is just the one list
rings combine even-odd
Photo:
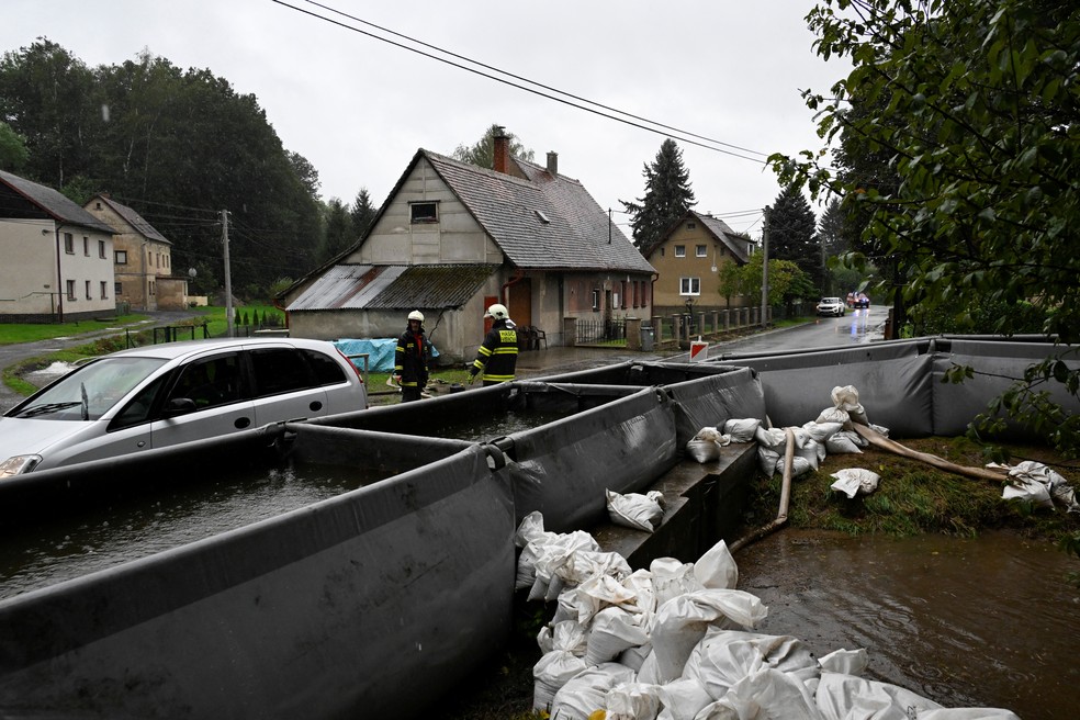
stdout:
[[167,361],[102,358],[68,373],[11,417],[97,420]]

